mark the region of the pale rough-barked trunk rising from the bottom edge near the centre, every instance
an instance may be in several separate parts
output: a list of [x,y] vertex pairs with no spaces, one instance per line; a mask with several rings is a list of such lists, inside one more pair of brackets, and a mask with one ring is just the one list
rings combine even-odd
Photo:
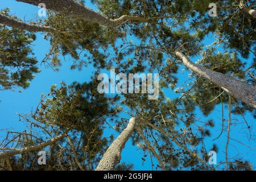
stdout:
[[108,150],[103,155],[100,163],[96,167],[95,171],[112,171],[115,166],[121,160],[121,152],[125,143],[133,133],[136,123],[136,118],[131,118],[126,129],[114,140],[114,142],[109,146]]

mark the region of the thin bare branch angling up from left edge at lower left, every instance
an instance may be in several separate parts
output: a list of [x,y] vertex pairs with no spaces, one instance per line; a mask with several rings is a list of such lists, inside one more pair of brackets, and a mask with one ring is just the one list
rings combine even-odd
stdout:
[[26,152],[31,152],[35,150],[40,150],[41,148],[44,148],[46,146],[49,146],[50,144],[53,144],[57,142],[57,140],[60,140],[61,138],[66,137],[67,134],[61,134],[58,137],[52,138],[51,140],[48,140],[47,142],[40,143],[36,146],[30,146],[30,147],[24,147],[20,148],[19,150],[11,150],[11,151],[5,151],[0,153],[0,159],[7,158],[9,156],[17,155],[17,154],[24,154]]

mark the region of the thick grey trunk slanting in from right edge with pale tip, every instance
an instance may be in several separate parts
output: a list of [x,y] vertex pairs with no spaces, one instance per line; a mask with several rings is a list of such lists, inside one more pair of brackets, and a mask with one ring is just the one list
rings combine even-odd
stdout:
[[213,71],[205,67],[201,67],[193,63],[187,56],[183,55],[180,51],[176,50],[175,55],[183,61],[185,67],[192,71],[199,73],[199,75],[207,78],[231,96],[245,102],[246,104],[256,109],[256,87],[249,85],[246,82],[237,80],[236,78],[222,73]]

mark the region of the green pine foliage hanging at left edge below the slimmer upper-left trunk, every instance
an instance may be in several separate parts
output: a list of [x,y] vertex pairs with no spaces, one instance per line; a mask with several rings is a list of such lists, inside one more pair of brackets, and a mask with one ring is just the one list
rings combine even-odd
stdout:
[[[2,10],[2,14],[9,15],[9,10]],[[26,89],[34,73],[39,73],[38,61],[31,57],[35,39],[35,34],[0,24],[0,89]]]

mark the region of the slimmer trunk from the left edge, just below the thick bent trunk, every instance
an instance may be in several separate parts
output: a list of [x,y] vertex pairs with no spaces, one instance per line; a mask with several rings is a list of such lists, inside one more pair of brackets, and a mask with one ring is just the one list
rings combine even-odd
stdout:
[[0,14],[0,23],[5,24],[9,27],[20,28],[22,30],[28,30],[32,32],[51,32],[54,30],[54,28],[51,28],[51,27],[38,26],[35,24],[27,24],[3,14]]

